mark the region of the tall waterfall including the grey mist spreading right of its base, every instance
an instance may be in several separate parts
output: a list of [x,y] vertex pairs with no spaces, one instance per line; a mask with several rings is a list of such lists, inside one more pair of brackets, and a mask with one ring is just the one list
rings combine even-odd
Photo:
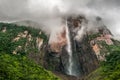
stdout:
[[71,35],[70,26],[68,26],[67,20],[66,20],[66,38],[67,38],[66,51],[68,53],[66,74],[72,76],[80,76],[80,65],[78,61],[78,56],[76,55],[76,52],[74,52],[73,54],[73,49],[75,48],[73,44],[75,45],[76,43],[74,43],[73,41],[73,36]]

